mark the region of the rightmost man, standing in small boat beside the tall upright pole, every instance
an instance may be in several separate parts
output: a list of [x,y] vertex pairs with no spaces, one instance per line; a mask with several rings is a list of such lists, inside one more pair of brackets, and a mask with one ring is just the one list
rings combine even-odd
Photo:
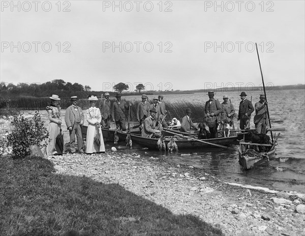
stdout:
[[258,134],[266,134],[267,128],[267,102],[264,94],[261,94],[259,97],[259,102],[255,103],[255,116],[254,124],[255,131]]

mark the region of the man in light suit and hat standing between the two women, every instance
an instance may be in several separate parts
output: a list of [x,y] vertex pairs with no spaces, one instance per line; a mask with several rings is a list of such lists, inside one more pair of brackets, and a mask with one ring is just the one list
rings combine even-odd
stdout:
[[79,153],[84,153],[83,150],[83,138],[81,132],[81,126],[84,124],[84,113],[82,109],[77,106],[77,96],[71,97],[72,105],[69,106],[65,113],[65,122],[67,129],[70,133],[70,152],[75,153],[75,134],[77,137],[77,149]]

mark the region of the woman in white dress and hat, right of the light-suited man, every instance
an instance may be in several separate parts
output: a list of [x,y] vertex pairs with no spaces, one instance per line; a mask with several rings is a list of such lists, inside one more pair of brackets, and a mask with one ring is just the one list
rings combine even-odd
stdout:
[[[104,139],[101,130],[102,115],[100,109],[96,107],[96,101],[98,101],[98,98],[94,95],[90,95],[88,100],[90,101],[91,107],[86,110],[86,118],[88,122],[86,154],[105,153]],[[98,142],[100,142],[100,145]]]

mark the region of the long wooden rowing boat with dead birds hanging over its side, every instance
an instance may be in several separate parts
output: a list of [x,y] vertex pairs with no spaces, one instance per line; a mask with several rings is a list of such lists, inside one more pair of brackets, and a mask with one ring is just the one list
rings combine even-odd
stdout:
[[[127,136],[127,133],[123,133],[120,131],[117,132],[117,134],[120,139],[125,139]],[[237,139],[237,135],[235,133],[233,133],[232,136],[230,136],[230,137],[198,139],[198,140],[202,140],[204,142],[208,142],[208,143],[203,143],[200,141],[193,140],[194,138],[192,140],[188,139],[187,136],[180,137],[180,136],[172,135],[172,136],[164,137],[166,146],[167,146],[168,142],[170,141],[171,137],[174,137],[174,140],[178,146],[178,149],[194,149],[194,148],[201,149],[201,148],[213,147],[212,145],[210,145],[208,143],[228,146],[228,145],[234,143]],[[158,149],[158,147],[157,147],[158,138],[145,138],[145,137],[141,137],[140,135],[131,134],[131,139],[134,143],[137,143],[143,147],[148,147],[148,149],[151,149],[151,150]]]

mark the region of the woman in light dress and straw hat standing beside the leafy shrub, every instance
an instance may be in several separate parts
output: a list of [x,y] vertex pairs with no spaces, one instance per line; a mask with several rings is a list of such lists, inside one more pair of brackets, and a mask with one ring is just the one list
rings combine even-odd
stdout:
[[56,145],[56,137],[60,132],[60,124],[62,124],[62,120],[60,119],[60,106],[58,105],[60,98],[57,95],[52,95],[50,99],[51,105],[46,107],[50,120],[47,127],[49,137],[45,140],[47,145],[43,147],[42,152],[44,155],[62,155],[62,152]]

